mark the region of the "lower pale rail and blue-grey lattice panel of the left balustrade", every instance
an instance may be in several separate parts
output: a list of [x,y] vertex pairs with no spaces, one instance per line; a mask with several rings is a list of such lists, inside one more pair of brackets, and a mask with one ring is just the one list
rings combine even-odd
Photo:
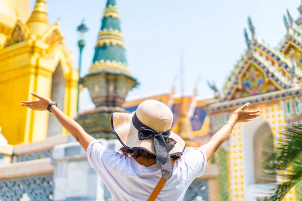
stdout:
[[50,158],[1,166],[0,200],[52,200],[53,171]]

